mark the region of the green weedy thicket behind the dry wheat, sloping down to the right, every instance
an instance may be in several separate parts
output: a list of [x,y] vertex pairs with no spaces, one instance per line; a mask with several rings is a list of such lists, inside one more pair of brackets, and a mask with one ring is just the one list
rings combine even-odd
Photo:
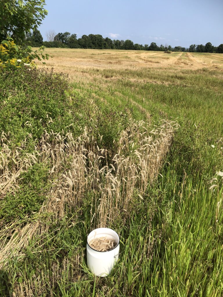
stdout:
[[128,124],[116,108],[100,100],[91,104],[89,93],[72,91],[62,73],[0,68],[0,84],[0,129],[9,135],[11,146],[19,146],[30,134],[40,139],[45,130],[79,136],[87,127],[98,145],[115,151],[120,131]]

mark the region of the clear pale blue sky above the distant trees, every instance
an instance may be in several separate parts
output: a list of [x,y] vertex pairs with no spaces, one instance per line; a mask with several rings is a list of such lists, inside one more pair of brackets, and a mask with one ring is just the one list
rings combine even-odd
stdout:
[[223,43],[223,0],[46,0],[39,30],[101,34],[134,43],[189,47]]

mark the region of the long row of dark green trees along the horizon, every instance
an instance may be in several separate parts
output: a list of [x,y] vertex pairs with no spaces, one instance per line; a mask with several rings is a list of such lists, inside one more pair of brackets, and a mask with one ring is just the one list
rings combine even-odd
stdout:
[[151,42],[150,45],[138,44],[127,40],[112,40],[109,37],[103,38],[100,34],[83,35],[77,38],[77,34],[70,32],[55,34],[53,30],[47,32],[48,41],[43,41],[43,37],[39,30],[34,29],[26,36],[26,41],[32,46],[44,45],[47,48],[92,48],[92,49],[120,49],[120,50],[155,50],[155,51],[182,51],[182,52],[198,52],[198,53],[223,53],[223,44],[215,47],[211,42],[205,45],[190,45],[189,48],[181,46],[160,45]]

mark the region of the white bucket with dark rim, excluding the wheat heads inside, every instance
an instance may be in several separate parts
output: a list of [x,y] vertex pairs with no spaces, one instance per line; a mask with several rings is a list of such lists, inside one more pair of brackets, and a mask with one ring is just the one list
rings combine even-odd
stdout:
[[[99,252],[89,246],[89,242],[94,238],[113,238],[117,245],[107,252]],[[119,236],[109,228],[98,228],[87,236],[87,266],[90,271],[100,277],[106,277],[118,260],[119,255]]]

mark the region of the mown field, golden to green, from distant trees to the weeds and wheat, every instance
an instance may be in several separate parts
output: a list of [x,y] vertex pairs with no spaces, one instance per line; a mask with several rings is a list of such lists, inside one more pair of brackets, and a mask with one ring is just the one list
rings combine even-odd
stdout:
[[[46,49],[43,68],[68,74],[77,92],[126,108],[137,119],[178,119],[222,136],[223,54]],[[195,127],[195,126],[194,126]],[[201,133],[201,131],[200,131]]]

